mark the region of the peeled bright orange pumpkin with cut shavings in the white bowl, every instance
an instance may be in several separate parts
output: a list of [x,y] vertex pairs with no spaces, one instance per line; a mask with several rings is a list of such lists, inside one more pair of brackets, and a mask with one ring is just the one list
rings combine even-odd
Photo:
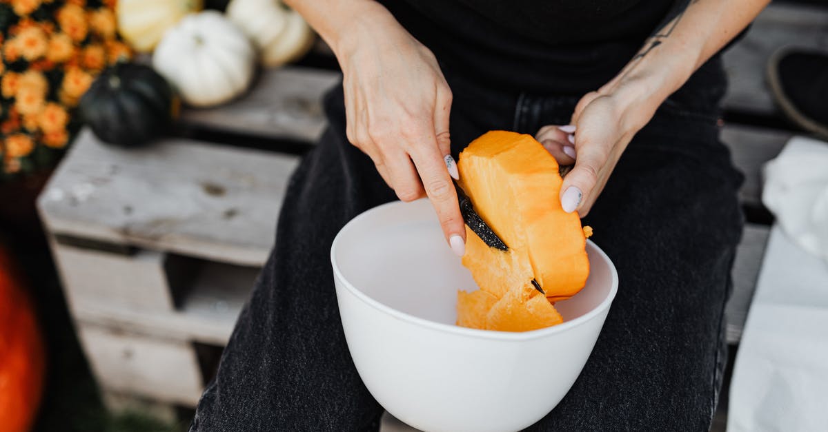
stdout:
[[460,291],[457,324],[502,331],[560,324],[554,302],[575,295],[590,273],[591,228],[561,209],[557,161],[529,135],[495,131],[471,142],[457,166],[474,209],[508,246],[489,247],[466,228],[463,265],[480,290]]

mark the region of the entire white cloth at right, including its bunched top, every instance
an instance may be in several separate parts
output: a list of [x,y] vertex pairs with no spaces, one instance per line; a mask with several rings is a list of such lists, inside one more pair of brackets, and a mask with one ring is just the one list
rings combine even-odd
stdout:
[[777,223],[736,354],[727,430],[828,431],[828,144],[795,137],[765,175]]

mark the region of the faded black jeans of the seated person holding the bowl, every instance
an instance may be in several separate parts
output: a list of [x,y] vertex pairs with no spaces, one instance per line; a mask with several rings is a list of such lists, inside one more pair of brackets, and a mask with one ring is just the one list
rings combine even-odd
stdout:
[[[455,157],[491,129],[533,134],[566,124],[577,102],[446,78],[455,95]],[[718,141],[723,93],[724,75],[713,62],[638,132],[586,218],[618,268],[619,293],[575,386],[531,430],[709,429],[743,222],[742,178]],[[350,218],[396,197],[347,142],[341,89],[327,94],[325,113],[330,127],[292,176],[276,246],[191,431],[378,427],[383,408],[350,358],[329,252]]]

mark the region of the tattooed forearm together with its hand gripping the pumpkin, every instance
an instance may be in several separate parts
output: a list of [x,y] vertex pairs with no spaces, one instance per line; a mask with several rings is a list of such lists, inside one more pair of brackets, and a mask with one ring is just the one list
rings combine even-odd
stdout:
[[[664,99],[728,41],[739,34],[768,0],[686,2],[644,41],[638,54],[612,81],[580,99],[571,125],[542,127],[538,141],[563,164],[575,167],[561,186],[561,206],[584,217],[633,135],[652,118]],[[730,13],[739,11],[739,13]],[[566,135],[566,136],[565,136]],[[574,146],[575,156],[572,149]]]

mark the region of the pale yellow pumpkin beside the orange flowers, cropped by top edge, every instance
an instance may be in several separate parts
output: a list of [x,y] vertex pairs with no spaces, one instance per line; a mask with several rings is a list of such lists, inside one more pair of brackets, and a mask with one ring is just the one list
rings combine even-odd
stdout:
[[201,7],[201,0],[118,0],[118,32],[135,50],[149,52],[167,29]]

